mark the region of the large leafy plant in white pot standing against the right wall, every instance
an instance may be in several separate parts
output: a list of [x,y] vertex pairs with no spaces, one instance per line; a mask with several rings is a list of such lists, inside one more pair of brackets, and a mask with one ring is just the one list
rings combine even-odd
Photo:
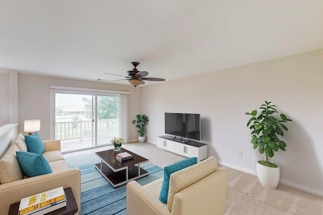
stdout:
[[284,136],[284,131],[288,128],[283,124],[292,121],[286,115],[280,114],[281,119],[277,119],[274,115],[278,115],[275,109],[276,105],[271,105],[272,102],[265,101],[259,109],[262,111],[257,115],[257,110],[251,113],[247,126],[251,129],[251,143],[253,149],[259,148],[259,153],[265,155],[265,161],[257,162],[257,175],[262,186],[266,188],[276,189],[279,183],[280,169],[279,166],[271,162],[275,153],[279,149],[286,151],[286,143],[280,138]]

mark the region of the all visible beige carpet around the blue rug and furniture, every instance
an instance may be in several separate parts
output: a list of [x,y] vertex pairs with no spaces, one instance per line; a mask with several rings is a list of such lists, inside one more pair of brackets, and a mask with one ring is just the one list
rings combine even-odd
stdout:
[[[134,142],[124,144],[123,147],[149,159],[149,162],[161,168],[185,159],[183,156],[159,149],[148,142]],[[64,157],[107,149],[112,149],[112,147],[64,154]],[[267,189],[259,183],[256,176],[230,169],[225,214],[323,215],[323,197],[284,184],[279,184],[277,189]]]

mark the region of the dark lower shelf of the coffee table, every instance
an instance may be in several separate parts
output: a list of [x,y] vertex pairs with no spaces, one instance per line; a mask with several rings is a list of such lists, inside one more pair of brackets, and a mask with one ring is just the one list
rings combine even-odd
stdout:
[[103,162],[95,164],[95,168],[112,184],[114,188],[149,174],[146,170],[138,166],[129,166],[127,179],[127,169],[114,172]]

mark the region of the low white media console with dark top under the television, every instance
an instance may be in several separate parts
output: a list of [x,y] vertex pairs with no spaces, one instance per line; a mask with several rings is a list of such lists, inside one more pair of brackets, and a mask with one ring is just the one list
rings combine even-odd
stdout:
[[179,142],[171,136],[158,136],[157,147],[188,158],[197,157],[198,161],[207,158],[207,144],[193,140]]

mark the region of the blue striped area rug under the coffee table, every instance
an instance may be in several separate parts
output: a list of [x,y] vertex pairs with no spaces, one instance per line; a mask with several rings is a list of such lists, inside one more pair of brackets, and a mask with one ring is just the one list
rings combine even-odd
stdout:
[[[126,184],[114,188],[95,169],[94,164],[100,162],[95,154],[66,158],[65,161],[70,168],[81,170],[81,214],[127,214]],[[151,163],[140,167],[149,172],[148,176],[136,180],[140,185],[164,176],[164,169]]]

